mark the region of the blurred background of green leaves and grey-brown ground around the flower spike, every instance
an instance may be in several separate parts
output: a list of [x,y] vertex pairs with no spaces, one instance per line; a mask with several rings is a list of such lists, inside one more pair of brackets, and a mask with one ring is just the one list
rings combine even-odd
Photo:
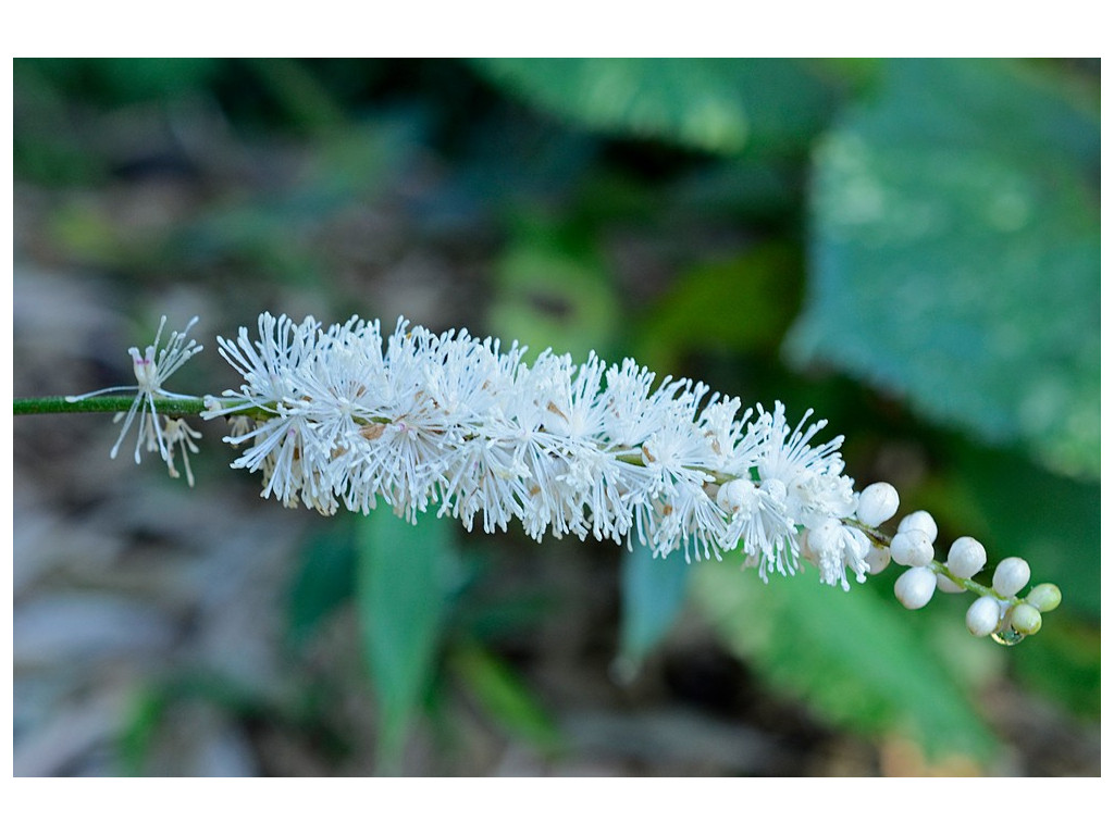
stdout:
[[1097,60],[14,61],[14,394],[158,318],[635,356],[1064,592],[1016,647],[741,559],[322,519],[14,425],[18,775],[1097,775]]

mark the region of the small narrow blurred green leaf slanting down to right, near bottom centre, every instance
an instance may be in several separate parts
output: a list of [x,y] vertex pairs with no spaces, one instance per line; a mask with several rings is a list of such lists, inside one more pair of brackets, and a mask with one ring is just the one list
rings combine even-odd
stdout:
[[451,664],[468,690],[505,730],[543,753],[558,746],[557,727],[510,667],[475,645],[453,652]]

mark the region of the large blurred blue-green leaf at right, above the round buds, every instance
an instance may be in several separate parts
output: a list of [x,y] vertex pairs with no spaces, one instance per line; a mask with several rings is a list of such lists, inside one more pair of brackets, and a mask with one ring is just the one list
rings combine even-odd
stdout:
[[817,157],[790,341],[941,423],[1097,475],[1100,131],[1006,61],[892,61]]

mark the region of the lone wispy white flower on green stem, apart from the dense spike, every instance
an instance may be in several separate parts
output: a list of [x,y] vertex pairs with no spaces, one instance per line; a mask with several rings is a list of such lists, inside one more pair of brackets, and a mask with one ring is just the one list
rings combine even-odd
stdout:
[[[138,464],[140,462],[139,449],[146,441],[148,452],[158,450],[159,455],[167,463],[172,474],[174,473],[174,463],[172,460],[173,453],[170,451],[169,443],[180,440],[180,430],[176,426],[175,436],[168,442],[168,440],[164,436],[160,416],[156,412],[155,397],[166,397],[172,400],[186,397],[186,395],[166,391],[163,387],[163,384],[170,377],[172,374],[174,374],[174,372],[180,369],[186,361],[189,360],[189,357],[202,350],[202,346],[198,345],[195,340],[186,342],[189,328],[196,323],[197,317],[194,316],[189,320],[189,323],[186,325],[185,330],[182,331],[182,333],[178,333],[177,331],[172,332],[166,346],[159,351],[158,342],[163,336],[163,328],[166,326],[166,316],[163,316],[158,323],[158,332],[155,334],[155,342],[148,345],[144,353],[140,354],[138,347],[131,347],[128,350],[128,354],[131,356],[131,370],[135,373],[136,383],[138,385],[118,385],[110,389],[100,389],[99,391],[89,392],[87,394],[66,397],[66,400],[70,403],[76,403],[87,397],[96,397],[111,392],[136,392],[135,400],[131,401],[131,407],[128,409],[126,413],[121,412],[116,415],[116,421],[123,420],[124,426],[120,429],[120,435],[116,440],[116,444],[109,453],[111,458],[116,458],[116,453],[120,450],[120,444],[124,443],[124,439],[127,435],[128,430],[131,429],[131,424],[135,422],[136,415],[138,414],[139,428],[136,436],[136,463]],[[185,448],[183,448],[183,454],[185,454]],[[192,484],[193,481],[190,480],[190,485]]]

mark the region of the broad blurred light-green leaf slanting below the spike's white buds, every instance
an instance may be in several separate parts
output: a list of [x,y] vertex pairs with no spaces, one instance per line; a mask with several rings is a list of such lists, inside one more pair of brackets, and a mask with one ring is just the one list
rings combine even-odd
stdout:
[[924,612],[822,586],[811,572],[764,586],[735,566],[698,566],[693,587],[726,646],[828,721],[911,734],[931,756],[993,753],[990,731],[925,640]]

